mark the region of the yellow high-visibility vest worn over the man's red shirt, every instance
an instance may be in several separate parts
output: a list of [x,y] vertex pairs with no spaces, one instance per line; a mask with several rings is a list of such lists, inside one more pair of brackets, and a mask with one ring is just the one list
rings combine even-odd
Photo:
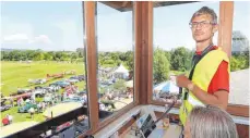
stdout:
[[[203,91],[207,92],[207,88],[216,73],[222,61],[226,61],[229,63],[229,59],[227,54],[222,50],[221,47],[216,50],[210,51],[205,54],[201,61],[197,64],[195,70],[192,76],[192,83],[200,87]],[[228,73],[230,73],[230,67],[228,65]],[[183,91],[182,91],[183,97]],[[187,100],[183,100],[180,110],[179,117],[181,123],[184,125],[188,114],[191,112],[193,106],[201,105],[205,106],[191,91],[189,91],[189,96]]]

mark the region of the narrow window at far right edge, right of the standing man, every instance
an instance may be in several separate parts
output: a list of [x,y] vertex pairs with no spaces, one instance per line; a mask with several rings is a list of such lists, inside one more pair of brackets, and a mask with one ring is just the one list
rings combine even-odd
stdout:
[[235,1],[229,103],[249,105],[250,2]]

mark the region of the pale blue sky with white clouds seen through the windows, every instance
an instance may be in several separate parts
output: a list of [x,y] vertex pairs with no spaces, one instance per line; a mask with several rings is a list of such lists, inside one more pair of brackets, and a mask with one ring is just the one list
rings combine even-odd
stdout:
[[[250,38],[250,2],[235,3],[234,29]],[[192,14],[207,5],[218,15],[219,2],[195,2],[154,9],[155,46],[166,50],[193,49],[189,28]],[[15,49],[71,50],[83,47],[83,14],[80,1],[1,2],[1,47]],[[97,4],[99,51],[127,51],[133,47],[132,12]],[[215,35],[214,42],[217,41]]]

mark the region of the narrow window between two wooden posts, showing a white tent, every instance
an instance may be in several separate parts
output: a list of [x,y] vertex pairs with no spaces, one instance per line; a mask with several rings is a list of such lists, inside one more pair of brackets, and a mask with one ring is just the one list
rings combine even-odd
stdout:
[[[99,110],[110,114],[133,102],[133,12],[96,3]],[[102,120],[100,120],[102,121]]]

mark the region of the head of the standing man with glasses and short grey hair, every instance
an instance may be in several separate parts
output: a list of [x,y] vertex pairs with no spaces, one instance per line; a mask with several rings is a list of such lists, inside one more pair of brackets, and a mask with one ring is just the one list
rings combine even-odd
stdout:
[[217,15],[214,10],[203,7],[198,10],[190,20],[193,39],[197,42],[213,40],[214,33],[217,32]]

